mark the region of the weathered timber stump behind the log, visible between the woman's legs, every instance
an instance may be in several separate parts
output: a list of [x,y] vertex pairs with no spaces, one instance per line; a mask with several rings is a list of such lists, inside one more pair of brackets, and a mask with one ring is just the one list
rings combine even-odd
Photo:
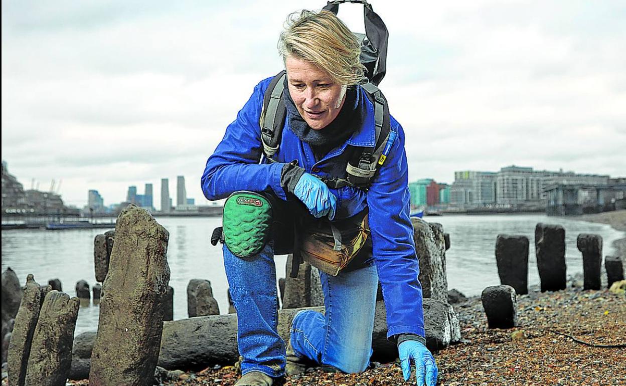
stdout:
[[285,265],[285,291],[282,298],[282,308],[317,307],[324,305],[324,293],[317,268],[309,263],[300,264],[297,277],[289,277],[293,255],[287,256]]

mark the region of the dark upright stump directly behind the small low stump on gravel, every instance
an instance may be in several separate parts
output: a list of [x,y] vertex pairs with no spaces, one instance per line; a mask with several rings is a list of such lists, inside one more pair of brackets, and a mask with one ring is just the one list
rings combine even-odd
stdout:
[[515,288],[520,295],[528,293],[528,238],[498,235],[496,263],[500,283]]

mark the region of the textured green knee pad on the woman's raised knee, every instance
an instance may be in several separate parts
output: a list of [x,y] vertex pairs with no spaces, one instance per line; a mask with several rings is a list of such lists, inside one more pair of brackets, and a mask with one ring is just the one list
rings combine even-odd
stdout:
[[259,193],[237,191],[224,203],[222,223],[224,243],[233,255],[256,255],[270,238],[272,205]]

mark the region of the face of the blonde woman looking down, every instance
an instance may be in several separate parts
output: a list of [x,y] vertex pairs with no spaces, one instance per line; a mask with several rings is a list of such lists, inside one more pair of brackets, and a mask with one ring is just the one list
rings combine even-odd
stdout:
[[285,61],[289,94],[300,116],[310,128],[320,130],[337,118],[346,99],[346,88],[332,81],[327,73],[302,59],[289,56]]

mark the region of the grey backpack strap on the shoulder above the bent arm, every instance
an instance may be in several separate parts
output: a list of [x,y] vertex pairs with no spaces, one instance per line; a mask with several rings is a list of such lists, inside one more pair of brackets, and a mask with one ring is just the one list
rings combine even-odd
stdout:
[[285,70],[280,71],[270,81],[263,96],[263,109],[259,119],[263,153],[265,158],[270,161],[273,161],[272,157],[278,151],[282,128],[287,115],[285,101],[282,99],[282,93],[285,89],[284,79]]

